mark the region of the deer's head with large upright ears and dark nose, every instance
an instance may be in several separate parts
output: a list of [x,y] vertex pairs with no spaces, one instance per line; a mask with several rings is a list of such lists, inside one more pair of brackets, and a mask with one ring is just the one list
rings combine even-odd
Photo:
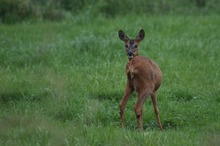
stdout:
[[144,30],[141,29],[135,39],[130,39],[122,30],[118,31],[119,38],[125,42],[125,50],[129,60],[138,55],[138,45],[144,39],[144,35]]

